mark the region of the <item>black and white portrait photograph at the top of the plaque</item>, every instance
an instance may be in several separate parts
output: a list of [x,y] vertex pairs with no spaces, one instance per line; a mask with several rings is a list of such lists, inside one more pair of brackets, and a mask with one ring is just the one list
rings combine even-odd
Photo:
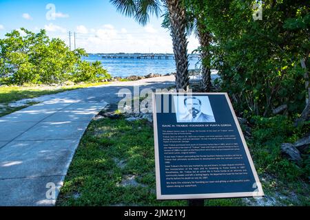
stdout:
[[174,96],[177,122],[216,122],[208,96]]

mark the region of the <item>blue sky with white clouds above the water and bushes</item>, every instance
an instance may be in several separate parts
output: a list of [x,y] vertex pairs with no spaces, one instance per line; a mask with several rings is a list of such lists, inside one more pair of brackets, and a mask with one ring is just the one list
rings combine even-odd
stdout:
[[[169,30],[161,28],[162,18],[151,17],[144,27],[116,12],[109,0],[0,0],[0,38],[7,32],[26,28],[45,29],[74,48],[88,53],[173,53]],[[189,36],[188,52],[198,47]]]

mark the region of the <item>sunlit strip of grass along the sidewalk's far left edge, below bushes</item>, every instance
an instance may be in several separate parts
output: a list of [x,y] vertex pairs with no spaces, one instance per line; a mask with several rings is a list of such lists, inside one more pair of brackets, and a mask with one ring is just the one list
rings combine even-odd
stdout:
[[[68,86],[1,86],[0,87],[0,104],[4,106],[4,111],[0,111],[0,117],[3,115],[8,115],[14,111],[18,111],[31,104],[37,102],[29,102],[23,107],[8,107],[10,102],[25,98],[36,98],[48,94],[57,94],[62,91],[70,91],[74,89],[81,89],[85,87],[92,87],[97,85],[105,85],[107,83],[83,83],[79,85],[68,85]],[[1,109],[0,109],[1,110]]]

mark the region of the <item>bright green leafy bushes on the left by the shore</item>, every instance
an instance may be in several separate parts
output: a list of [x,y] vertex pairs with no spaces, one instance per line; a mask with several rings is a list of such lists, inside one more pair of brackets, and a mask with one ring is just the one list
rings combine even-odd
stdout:
[[110,78],[99,61],[82,61],[85,50],[71,51],[61,39],[50,39],[45,30],[21,31],[0,39],[0,85],[95,83]]

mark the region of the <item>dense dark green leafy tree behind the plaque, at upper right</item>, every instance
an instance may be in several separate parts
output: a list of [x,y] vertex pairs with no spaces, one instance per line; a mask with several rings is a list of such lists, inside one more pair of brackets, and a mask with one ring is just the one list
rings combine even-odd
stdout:
[[285,24],[307,17],[309,3],[264,1],[262,20],[254,21],[257,1],[202,1],[206,30],[214,36],[212,69],[235,108],[245,116],[273,115],[280,107],[286,107],[283,113],[301,112],[306,92],[300,55],[307,53],[298,48],[308,47],[309,26],[302,32]]

